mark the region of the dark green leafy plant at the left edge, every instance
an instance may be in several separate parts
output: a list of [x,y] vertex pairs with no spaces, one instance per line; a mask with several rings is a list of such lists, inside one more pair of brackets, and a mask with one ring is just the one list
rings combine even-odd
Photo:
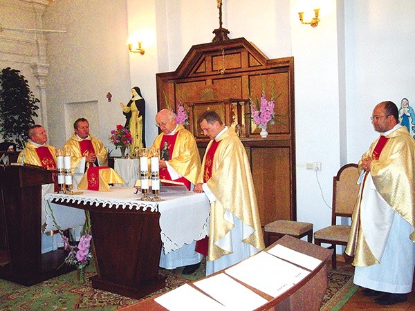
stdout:
[[28,129],[35,124],[40,102],[20,70],[10,67],[0,74],[0,134],[3,140],[16,142],[19,149],[28,140]]

